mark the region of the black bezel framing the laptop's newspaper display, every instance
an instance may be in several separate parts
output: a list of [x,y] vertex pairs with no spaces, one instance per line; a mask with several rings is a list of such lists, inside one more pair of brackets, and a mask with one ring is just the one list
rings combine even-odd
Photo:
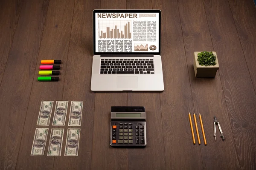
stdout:
[[[159,13],[159,52],[96,52],[96,30],[95,30],[95,14],[96,13],[104,13],[104,12],[143,12],[143,13]],[[113,9],[95,9],[93,10],[93,55],[111,55],[113,56],[113,54],[115,56],[135,56],[135,55],[141,55],[141,56],[145,56],[145,55],[160,55],[160,51],[161,51],[161,11],[159,9],[151,9],[151,10],[134,10],[134,9],[119,9],[119,10],[113,10]]]

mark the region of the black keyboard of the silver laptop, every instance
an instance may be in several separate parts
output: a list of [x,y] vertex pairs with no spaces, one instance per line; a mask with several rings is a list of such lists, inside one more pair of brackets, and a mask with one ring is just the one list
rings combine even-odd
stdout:
[[154,60],[101,59],[100,74],[154,74]]

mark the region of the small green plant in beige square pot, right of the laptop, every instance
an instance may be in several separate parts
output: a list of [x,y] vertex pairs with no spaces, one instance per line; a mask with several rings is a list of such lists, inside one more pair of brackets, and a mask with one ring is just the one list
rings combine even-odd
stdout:
[[196,51],[194,52],[194,71],[195,77],[215,77],[219,69],[218,58],[215,51]]

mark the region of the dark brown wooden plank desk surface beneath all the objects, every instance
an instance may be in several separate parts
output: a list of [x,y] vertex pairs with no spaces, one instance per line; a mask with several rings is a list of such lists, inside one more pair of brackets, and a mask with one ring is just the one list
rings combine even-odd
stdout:
[[[113,8],[162,11],[162,93],[90,91],[92,11]],[[195,78],[194,51],[217,52],[215,79]],[[255,54],[253,0],[1,0],[0,169],[254,169]],[[37,81],[41,59],[63,61],[59,82]],[[84,101],[79,156],[30,156],[41,100]],[[111,106],[134,105],[146,108],[147,146],[112,148]],[[188,112],[201,113],[207,146],[192,144]]]

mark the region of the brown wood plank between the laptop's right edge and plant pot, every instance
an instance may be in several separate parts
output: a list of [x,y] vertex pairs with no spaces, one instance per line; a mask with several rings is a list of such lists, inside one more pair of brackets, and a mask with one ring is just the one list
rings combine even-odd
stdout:
[[[188,113],[194,111],[180,16],[176,1],[153,1],[162,11],[162,63],[165,90],[160,94],[166,169],[202,169],[201,151],[191,137]],[[194,127],[195,129],[195,127]]]

